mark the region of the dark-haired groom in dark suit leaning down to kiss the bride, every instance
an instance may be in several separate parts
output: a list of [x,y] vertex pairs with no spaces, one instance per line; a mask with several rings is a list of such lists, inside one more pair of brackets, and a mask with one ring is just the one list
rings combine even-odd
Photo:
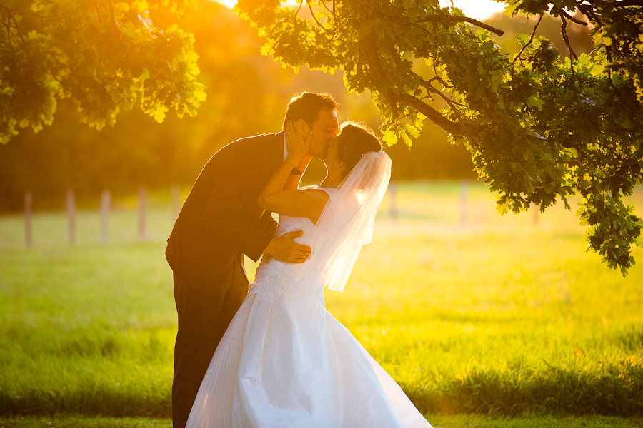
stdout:
[[[284,129],[303,119],[313,133],[308,156],[292,174],[301,175],[311,157],[326,157],[339,131],[338,106],[321,93],[291,99]],[[174,223],[165,251],[174,271],[179,332],[174,347],[172,422],[185,427],[214,350],[248,292],[244,254],[268,254],[301,263],[310,254],[294,243],[299,232],[273,239],[276,222],[257,205],[259,191],[286,158],[284,133],[233,141],[206,163]]]

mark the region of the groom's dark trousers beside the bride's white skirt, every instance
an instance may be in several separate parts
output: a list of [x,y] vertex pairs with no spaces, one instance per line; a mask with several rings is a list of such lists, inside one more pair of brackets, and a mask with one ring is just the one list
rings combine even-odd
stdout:
[[214,295],[204,295],[174,274],[174,300],[179,313],[172,382],[174,428],[185,427],[214,350],[247,294],[244,272],[233,272],[231,280]]

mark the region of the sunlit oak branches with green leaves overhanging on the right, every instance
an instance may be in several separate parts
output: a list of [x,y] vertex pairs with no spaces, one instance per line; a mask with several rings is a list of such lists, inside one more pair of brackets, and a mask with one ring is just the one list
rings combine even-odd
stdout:
[[[425,118],[449,132],[499,194],[499,213],[557,200],[569,208],[569,196],[581,195],[590,248],[626,275],[643,228],[622,202],[643,178],[643,3],[507,3],[508,14],[558,17],[572,60],[533,34],[519,36],[519,54],[503,54],[489,38],[502,31],[434,0],[311,0],[294,9],[239,0],[234,10],[265,37],[266,54],[294,68],[337,68],[349,91],[371,91],[387,144],[411,146]],[[594,25],[592,56],[569,45],[568,24],[584,24],[576,11]]]

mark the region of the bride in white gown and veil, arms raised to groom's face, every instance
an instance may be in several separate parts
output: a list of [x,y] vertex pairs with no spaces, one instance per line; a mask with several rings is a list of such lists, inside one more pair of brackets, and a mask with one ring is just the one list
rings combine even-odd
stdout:
[[[428,427],[392,377],[326,310],[342,291],[391,176],[372,131],[344,123],[320,185],[290,175],[308,151],[306,125],[286,129],[287,156],[259,195],[279,213],[277,235],[302,230],[304,263],[264,256],[255,283],[216,348],[187,427]],[[304,136],[306,136],[304,138]]]

